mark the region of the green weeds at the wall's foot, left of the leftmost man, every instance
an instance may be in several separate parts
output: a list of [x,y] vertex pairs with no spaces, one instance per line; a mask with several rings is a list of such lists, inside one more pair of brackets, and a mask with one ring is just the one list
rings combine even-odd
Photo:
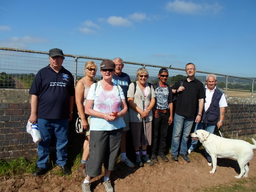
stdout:
[[24,157],[7,162],[0,160],[0,176],[15,176],[22,174],[31,174],[36,170],[36,161],[29,162]]

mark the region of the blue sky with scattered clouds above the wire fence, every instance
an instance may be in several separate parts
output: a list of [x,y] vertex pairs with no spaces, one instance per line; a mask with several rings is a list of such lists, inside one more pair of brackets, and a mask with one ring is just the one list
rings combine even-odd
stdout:
[[0,47],[256,77],[255,10],[255,0],[2,0]]

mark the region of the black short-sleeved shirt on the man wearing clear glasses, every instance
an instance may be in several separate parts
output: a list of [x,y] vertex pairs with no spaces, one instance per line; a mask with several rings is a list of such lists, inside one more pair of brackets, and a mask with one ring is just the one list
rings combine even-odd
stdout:
[[[204,85],[196,78],[188,82],[183,79],[185,89],[179,92],[180,96],[176,101],[175,113],[182,116],[194,117],[197,114],[198,100],[205,98]],[[172,86],[172,89],[178,89],[180,81]]]

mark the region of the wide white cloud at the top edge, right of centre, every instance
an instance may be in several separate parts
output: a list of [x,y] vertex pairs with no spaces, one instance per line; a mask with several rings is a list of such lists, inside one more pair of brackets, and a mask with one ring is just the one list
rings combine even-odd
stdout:
[[203,13],[217,13],[222,7],[218,3],[214,4],[199,4],[191,1],[175,0],[168,2],[165,9],[169,12],[178,12],[183,14],[203,14]]

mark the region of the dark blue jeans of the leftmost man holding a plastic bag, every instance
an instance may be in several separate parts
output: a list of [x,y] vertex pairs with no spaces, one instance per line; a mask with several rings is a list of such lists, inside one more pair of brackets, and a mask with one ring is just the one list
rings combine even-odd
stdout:
[[57,150],[56,164],[64,166],[68,160],[68,119],[37,119],[42,141],[37,143],[37,166],[48,167],[50,143],[54,135]]

